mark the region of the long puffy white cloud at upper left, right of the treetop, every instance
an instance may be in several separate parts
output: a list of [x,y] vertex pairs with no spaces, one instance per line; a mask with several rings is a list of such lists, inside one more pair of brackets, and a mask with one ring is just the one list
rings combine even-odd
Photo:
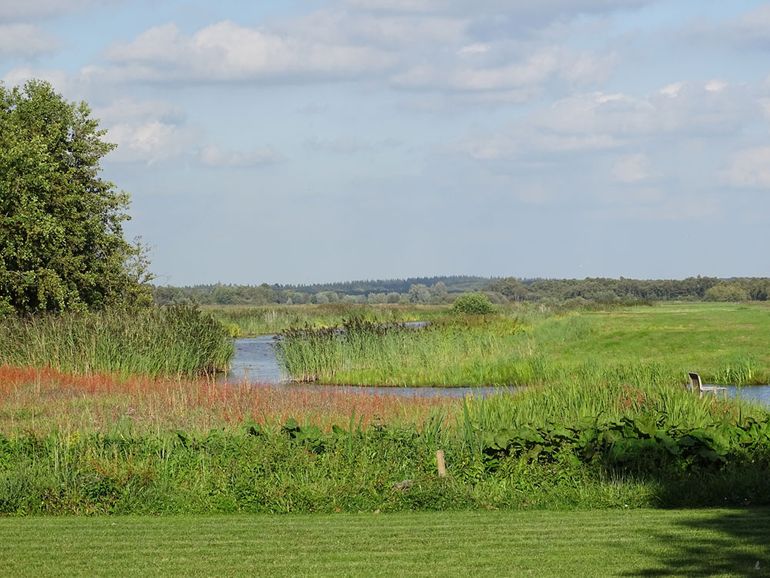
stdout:
[[113,47],[108,58],[124,79],[240,82],[358,77],[391,65],[366,46],[319,43],[225,21],[186,36],[174,24]]

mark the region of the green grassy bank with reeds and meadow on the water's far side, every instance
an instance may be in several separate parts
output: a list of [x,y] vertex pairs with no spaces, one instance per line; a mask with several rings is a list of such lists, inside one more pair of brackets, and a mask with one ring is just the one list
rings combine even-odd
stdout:
[[653,379],[770,382],[770,307],[661,304],[569,311],[509,307],[484,318],[434,312],[424,330],[348,323],[289,330],[280,344],[299,381],[357,385],[535,385]]

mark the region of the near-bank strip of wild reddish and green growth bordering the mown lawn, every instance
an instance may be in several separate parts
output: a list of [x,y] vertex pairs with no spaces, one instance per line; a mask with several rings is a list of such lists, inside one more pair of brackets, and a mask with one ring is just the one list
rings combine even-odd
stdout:
[[[699,399],[679,386],[656,384],[654,371],[646,375],[650,382],[634,386],[554,384],[463,405],[328,388],[115,380],[4,367],[0,513],[770,503],[767,412]],[[555,423],[595,440],[595,421],[628,416],[638,423],[648,415],[658,425],[665,419],[665,431],[669,425],[702,428],[706,437],[720,423],[750,418],[761,423],[756,432],[744,432],[753,445],[727,444],[722,465],[669,457],[666,470],[659,471],[640,455],[640,467],[647,464],[643,477],[622,468],[606,470],[605,462],[567,446],[564,454],[490,457],[487,452],[490,435],[497,444],[501,431],[513,432],[514,442],[527,442],[515,437],[520,425]],[[526,428],[522,431],[526,435]],[[644,440],[644,451],[656,440]],[[662,438],[660,445],[665,443]],[[437,475],[437,449],[445,451],[446,478]],[[611,458],[605,450],[600,457]]]

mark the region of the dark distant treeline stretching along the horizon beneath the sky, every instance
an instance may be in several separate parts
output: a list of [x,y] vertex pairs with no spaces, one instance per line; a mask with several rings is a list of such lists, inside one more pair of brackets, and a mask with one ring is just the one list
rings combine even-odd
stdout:
[[451,303],[482,291],[495,303],[515,301],[644,303],[653,301],[767,301],[770,278],[519,279],[471,276],[414,277],[317,285],[195,285],[154,288],[159,305],[269,305],[301,303]]

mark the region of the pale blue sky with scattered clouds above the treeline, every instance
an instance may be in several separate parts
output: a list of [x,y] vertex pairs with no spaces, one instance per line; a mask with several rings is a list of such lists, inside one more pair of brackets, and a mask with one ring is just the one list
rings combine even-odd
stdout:
[[770,2],[0,0],[156,283],[770,276]]

